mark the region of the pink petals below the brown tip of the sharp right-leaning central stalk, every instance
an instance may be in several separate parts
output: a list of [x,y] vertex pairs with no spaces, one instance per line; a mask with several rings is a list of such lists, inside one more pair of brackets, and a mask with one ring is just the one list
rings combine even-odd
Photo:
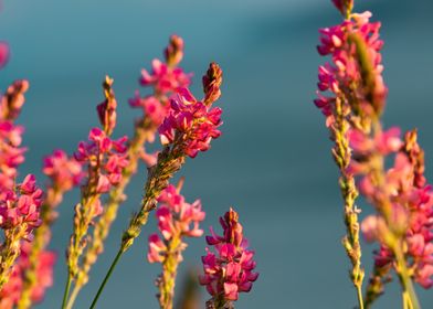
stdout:
[[210,108],[198,102],[187,88],[180,89],[171,100],[169,116],[159,127],[162,145],[173,143],[177,137],[184,153],[194,158],[199,151],[208,150],[211,140],[221,135],[218,130],[222,124],[221,114],[221,108]]

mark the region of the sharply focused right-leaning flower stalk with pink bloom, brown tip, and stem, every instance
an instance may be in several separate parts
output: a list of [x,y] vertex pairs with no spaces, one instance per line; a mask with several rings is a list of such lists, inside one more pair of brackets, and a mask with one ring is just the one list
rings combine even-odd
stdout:
[[221,135],[216,128],[222,124],[220,119],[222,110],[218,107],[211,108],[220,97],[221,83],[222,71],[212,63],[203,77],[203,102],[198,102],[187,88],[180,88],[178,96],[171,100],[170,111],[159,127],[165,148],[158,153],[157,163],[148,168],[140,209],[133,215],[128,227],[123,233],[119,251],[91,308],[96,306],[118,259],[139,236],[142,226],[148,221],[149,213],[157,206],[157,198],[169,185],[169,180],[175,173],[180,170],[186,157],[194,158],[199,151],[208,150],[211,140]]

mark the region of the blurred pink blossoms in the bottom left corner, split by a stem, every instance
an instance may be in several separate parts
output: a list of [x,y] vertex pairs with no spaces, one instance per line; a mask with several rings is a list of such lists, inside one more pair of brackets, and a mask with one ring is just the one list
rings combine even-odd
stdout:
[[[11,277],[7,285],[0,290],[0,308],[17,308],[24,286],[23,275],[30,264],[31,244],[23,243],[19,262],[13,266]],[[38,285],[34,285],[30,298],[33,303],[41,302],[45,294],[45,289],[53,285],[53,266],[56,255],[53,252],[41,252],[38,255],[36,277]]]

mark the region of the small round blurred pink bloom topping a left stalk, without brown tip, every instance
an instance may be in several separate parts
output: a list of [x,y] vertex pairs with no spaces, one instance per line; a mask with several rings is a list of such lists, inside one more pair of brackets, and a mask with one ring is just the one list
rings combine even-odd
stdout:
[[60,149],[44,158],[43,173],[51,179],[53,188],[63,192],[78,185],[83,178],[81,163]]

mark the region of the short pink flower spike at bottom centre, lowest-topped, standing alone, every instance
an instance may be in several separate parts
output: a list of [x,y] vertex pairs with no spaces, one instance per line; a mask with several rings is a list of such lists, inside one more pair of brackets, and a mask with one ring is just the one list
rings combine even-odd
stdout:
[[212,296],[212,301],[224,305],[237,300],[240,292],[250,291],[258,274],[253,271],[254,252],[247,249],[237,213],[230,209],[220,217],[220,224],[222,236],[212,228],[211,236],[207,236],[207,243],[214,247],[215,253],[207,249],[207,255],[202,257],[204,275],[199,279]]

